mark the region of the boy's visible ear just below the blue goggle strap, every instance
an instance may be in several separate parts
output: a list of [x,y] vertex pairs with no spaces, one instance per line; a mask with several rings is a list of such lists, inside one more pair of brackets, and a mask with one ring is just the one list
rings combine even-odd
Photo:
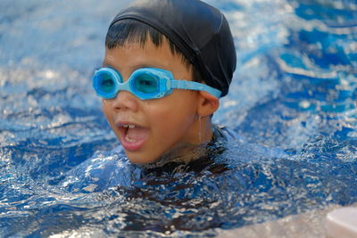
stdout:
[[202,117],[211,116],[220,107],[220,99],[204,91],[199,91],[197,112]]

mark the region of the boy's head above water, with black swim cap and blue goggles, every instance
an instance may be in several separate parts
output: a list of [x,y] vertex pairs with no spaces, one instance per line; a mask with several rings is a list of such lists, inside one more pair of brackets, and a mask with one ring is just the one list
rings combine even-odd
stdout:
[[105,46],[94,87],[131,162],[212,142],[212,114],[236,69],[220,11],[198,0],[137,1],[114,18]]

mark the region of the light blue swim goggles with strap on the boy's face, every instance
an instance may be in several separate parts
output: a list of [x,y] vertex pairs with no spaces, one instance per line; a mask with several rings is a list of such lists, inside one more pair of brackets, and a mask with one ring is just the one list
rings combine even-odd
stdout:
[[220,90],[197,82],[176,80],[168,70],[141,68],[135,70],[130,78],[123,82],[120,72],[106,67],[95,71],[93,87],[96,94],[110,99],[120,91],[129,91],[141,100],[162,98],[172,93],[174,88],[205,91],[220,98]]

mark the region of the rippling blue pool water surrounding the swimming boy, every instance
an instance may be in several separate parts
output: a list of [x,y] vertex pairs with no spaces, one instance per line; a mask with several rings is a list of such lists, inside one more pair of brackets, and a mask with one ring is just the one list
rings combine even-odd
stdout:
[[[238,55],[213,119],[246,143],[199,171],[135,179],[107,153],[118,142],[90,79],[128,2],[0,2],[0,237],[212,236],[357,201],[354,0],[207,1]],[[63,187],[101,160],[124,169],[108,175],[117,184]]]

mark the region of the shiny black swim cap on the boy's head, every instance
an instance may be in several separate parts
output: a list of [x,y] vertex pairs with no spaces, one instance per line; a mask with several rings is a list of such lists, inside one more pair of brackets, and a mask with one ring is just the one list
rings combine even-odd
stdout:
[[176,45],[203,76],[224,96],[236,70],[236,48],[224,15],[198,0],[140,0],[121,11],[120,20],[141,21]]

